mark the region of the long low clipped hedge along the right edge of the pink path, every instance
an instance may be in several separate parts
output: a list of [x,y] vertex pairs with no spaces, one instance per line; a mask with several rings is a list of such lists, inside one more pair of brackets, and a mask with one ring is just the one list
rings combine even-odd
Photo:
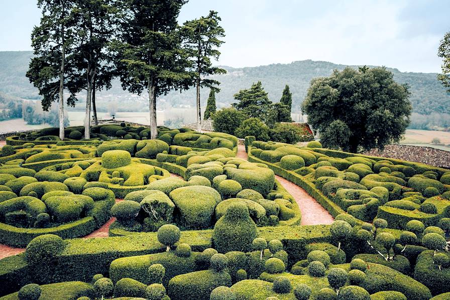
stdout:
[[337,204],[335,204],[334,202],[332,202],[330,199],[328,199],[320,190],[318,190],[314,184],[312,182],[308,182],[306,180],[304,180],[302,178],[301,175],[293,172],[293,171],[288,171],[285,169],[282,169],[281,167],[264,161],[262,159],[259,159],[255,156],[253,156],[250,152],[250,150],[252,149],[252,147],[249,147],[249,158],[248,160],[250,162],[256,162],[256,163],[263,163],[266,164],[270,169],[272,169],[275,174],[277,174],[278,176],[281,176],[295,184],[297,184],[298,186],[300,186],[301,188],[303,188],[304,190],[306,190],[306,192],[311,195],[312,197],[314,197],[314,199],[316,199],[316,201],[324,208],[326,209],[333,217],[336,217],[339,214],[347,214],[343,209],[341,209]]

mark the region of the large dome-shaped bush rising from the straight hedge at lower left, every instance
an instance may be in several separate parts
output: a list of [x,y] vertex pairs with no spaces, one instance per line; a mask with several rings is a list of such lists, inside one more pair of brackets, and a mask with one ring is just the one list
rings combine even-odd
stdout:
[[25,257],[30,265],[48,264],[65,247],[61,237],[54,234],[44,234],[30,241],[25,251]]

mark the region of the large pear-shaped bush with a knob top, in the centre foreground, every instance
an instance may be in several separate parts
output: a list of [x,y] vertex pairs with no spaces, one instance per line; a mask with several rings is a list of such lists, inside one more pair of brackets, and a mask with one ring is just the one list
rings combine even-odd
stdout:
[[249,252],[257,236],[256,224],[246,205],[235,203],[214,225],[212,239],[218,252]]

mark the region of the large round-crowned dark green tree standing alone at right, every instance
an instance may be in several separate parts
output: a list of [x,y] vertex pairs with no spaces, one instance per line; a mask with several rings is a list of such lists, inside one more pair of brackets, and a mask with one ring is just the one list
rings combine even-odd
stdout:
[[357,152],[401,139],[412,109],[409,95],[385,67],[348,67],[313,79],[302,111],[322,145]]

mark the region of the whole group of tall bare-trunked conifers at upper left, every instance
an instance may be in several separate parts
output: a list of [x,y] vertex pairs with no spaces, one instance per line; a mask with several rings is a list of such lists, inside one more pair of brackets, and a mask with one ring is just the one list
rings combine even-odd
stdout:
[[[150,138],[157,136],[156,98],[195,86],[197,127],[201,128],[200,87],[218,91],[208,75],[225,73],[212,66],[223,43],[217,12],[178,25],[186,0],[38,0],[41,21],[31,35],[35,57],[27,77],[48,111],[59,102],[60,138],[64,104],[74,106],[85,91],[85,139],[90,115],[97,124],[95,92],[119,78],[124,90],[146,92]],[[64,93],[68,93],[64,99]]]

